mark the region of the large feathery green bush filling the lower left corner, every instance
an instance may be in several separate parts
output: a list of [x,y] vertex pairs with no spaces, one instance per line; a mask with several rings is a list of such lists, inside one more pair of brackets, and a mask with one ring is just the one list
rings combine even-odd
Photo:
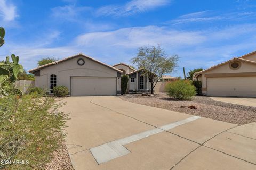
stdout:
[[0,160],[26,164],[0,164],[0,169],[45,169],[65,138],[62,105],[35,93],[0,98]]

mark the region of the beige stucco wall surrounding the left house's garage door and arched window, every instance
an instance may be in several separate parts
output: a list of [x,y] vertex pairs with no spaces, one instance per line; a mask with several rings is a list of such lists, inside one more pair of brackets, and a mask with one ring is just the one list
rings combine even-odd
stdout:
[[[78,65],[77,60],[83,58],[84,65]],[[35,85],[41,88],[50,88],[50,75],[57,76],[57,86],[66,86],[70,90],[70,77],[117,77],[117,71],[110,69],[107,66],[99,64],[84,56],[77,56],[70,60],[61,62],[56,65],[51,65],[41,69],[40,76],[35,76]],[[120,90],[120,79],[117,79],[117,90]]]

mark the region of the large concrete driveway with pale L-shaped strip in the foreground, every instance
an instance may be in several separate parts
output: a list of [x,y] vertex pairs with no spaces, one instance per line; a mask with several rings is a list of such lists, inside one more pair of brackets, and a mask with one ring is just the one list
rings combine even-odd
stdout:
[[115,96],[64,101],[75,169],[256,168],[256,123],[237,126]]

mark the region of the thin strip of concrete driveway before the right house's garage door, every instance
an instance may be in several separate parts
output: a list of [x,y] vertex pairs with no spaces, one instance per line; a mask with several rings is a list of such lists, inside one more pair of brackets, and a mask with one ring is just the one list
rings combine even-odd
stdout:
[[211,97],[213,100],[225,103],[232,103],[244,106],[256,107],[256,98],[240,98],[240,97]]

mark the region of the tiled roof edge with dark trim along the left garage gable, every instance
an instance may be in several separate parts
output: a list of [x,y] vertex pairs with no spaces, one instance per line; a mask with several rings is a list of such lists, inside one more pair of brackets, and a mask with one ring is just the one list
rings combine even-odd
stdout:
[[43,69],[43,68],[45,68],[45,67],[49,67],[49,66],[51,66],[51,65],[55,65],[55,64],[64,62],[64,61],[66,61],[66,60],[70,60],[71,58],[75,58],[75,57],[77,57],[77,56],[84,56],[84,57],[86,57],[86,58],[88,58],[88,59],[90,59],[90,60],[92,60],[92,61],[94,61],[94,62],[97,62],[97,63],[99,63],[99,64],[105,65],[105,66],[109,67],[110,69],[113,69],[113,70],[115,70],[115,71],[117,71],[117,72],[122,73],[121,70],[116,69],[115,67],[110,66],[110,65],[108,65],[108,64],[102,63],[102,62],[100,62],[99,60],[96,60],[96,59],[94,59],[94,58],[92,58],[92,57],[90,57],[90,56],[87,56],[87,55],[83,54],[83,53],[79,53],[79,54],[76,54],[76,55],[73,55],[73,56],[69,56],[69,57],[63,58],[63,59],[61,59],[61,60],[58,60],[58,61],[49,63],[49,64],[45,64],[45,65],[36,67],[35,69],[31,69],[31,70],[29,70],[28,72],[29,72],[29,73],[34,73],[34,72],[37,71],[37,70],[41,70],[41,69]]

